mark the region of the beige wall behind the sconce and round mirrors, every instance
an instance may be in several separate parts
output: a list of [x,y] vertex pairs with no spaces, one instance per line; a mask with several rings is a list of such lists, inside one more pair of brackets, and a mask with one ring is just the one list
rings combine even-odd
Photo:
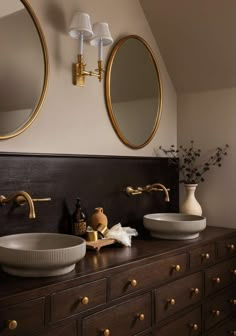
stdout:
[[[113,155],[153,155],[154,147],[176,143],[177,97],[158,46],[138,0],[31,0],[49,49],[50,77],[43,107],[31,127],[21,135],[0,142],[0,151],[78,153]],[[152,47],[163,82],[163,113],[152,142],[140,150],[126,147],[110,124],[104,87],[88,78],[84,88],[72,85],[71,66],[76,61],[78,43],[67,34],[75,10],[88,12],[93,22],[107,21],[116,41],[136,34]],[[104,51],[108,55],[111,48]],[[85,46],[88,69],[96,67],[97,50]]]

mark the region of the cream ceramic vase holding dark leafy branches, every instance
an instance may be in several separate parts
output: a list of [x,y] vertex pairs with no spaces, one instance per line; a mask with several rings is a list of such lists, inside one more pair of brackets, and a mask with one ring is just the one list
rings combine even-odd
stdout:
[[180,206],[180,212],[188,215],[202,215],[202,207],[195,197],[197,184],[185,184],[186,196]]

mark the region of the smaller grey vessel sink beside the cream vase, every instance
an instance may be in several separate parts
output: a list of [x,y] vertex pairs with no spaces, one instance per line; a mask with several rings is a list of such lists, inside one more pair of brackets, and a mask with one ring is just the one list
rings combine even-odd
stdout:
[[206,217],[181,213],[154,213],[143,217],[143,225],[155,238],[194,239],[206,228]]

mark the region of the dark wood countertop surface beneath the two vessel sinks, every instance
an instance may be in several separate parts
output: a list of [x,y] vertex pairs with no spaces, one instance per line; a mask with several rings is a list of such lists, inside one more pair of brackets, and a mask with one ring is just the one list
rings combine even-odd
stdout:
[[[0,271],[0,307],[14,304],[18,301],[29,300],[39,295],[47,295],[53,291],[62,290],[79,283],[96,280],[103,272],[112,271],[117,267],[128,267],[130,262],[145,264],[152,258],[187,252],[189,248],[200,246],[209,241],[224,239],[236,235],[236,230],[208,226],[199,238],[194,240],[161,240],[133,239],[132,247],[116,245],[104,247],[99,252],[88,250],[86,256],[78,262],[74,271],[69,274],[49,278],[21,278]],[[37,290],[37,296],[36,296]]]

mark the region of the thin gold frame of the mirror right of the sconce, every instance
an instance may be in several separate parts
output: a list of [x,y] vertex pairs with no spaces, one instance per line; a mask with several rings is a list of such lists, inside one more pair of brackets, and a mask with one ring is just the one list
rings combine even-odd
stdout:
[[[117,55],[117,52],[119,51],[120,47],[123,45],[124,42],[126,42],[128,39],[137,39],[138,41],[142,42],[142,44],[144,45],[144,47],[146,47],[146,49],[148,50],[151,59],[153,61],[153,65],[154,68],[156,70],[156,75],[157,75],[157,81],[158,81],[158,86],[159,86],[159,92],[158,92],[158,98],[159,98],[159,104],[157,107],[157,111],[156,111],[156,119],[155,122],[153,124],[153,128],[152,131],[149,135],[149,137],[147,138],[147,140],[140,144],[140,145],[134,145],[132,143],[130,143],[127,138],[124,136],[124,134],[121,132],[119,125],[117,124],[115,115],[114,115],[114,111],[113,111],[113,107],[112,107],[112,99],[111,99],[111,72],[112,72],[112,66],[113,66],[113,62],[114,59]],[[124,79],[125,79],[125,75],[124,74]],[[151,47],[148,45],[148,43],[140,36],[138,35],[128,35],[125,36],[123,38],[121,38],[117,44],[115,45],[115,47],[113,48],[109,59],[108,59],[108,63],[107,63],[107,71],[106,71],[106,76],[105,76],[105,97],[106,97],[106,105],[107,105],[107,109],[108,109],[108,114],[112,123],[112,126],[116,132],[116,134],[118,135],[118,137],[120,138],[120,140],[128,147],[132,148],[132,149],[139,149],[142,147],[145,147],[154,137],[159,123],[160,123],[160,119],[161,119],[161,112],[162,112],[162,82],[161,82],[161,78],[160,78],[160,71],[158,68],[158,64],[156,61],[156,58],[154,56],[154,53],[151,49]]]

